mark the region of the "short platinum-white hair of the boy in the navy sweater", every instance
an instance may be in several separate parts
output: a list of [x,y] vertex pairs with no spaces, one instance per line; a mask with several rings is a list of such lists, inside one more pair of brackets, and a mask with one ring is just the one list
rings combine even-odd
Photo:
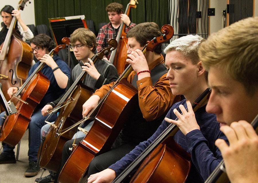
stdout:
[[200,59],[198,56],[198,48],[205,41],[199,35],[186,35],[172,41],[165,49],[164,53],[169,51],[179,51],[184,57],[189,58],[192,64],[197,64]]

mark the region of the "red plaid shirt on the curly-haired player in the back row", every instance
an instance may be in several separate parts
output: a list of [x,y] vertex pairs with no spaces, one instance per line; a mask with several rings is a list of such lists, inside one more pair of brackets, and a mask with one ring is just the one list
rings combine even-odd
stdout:
[[[125,32],[127,33],[130,29],[132,29],[136,24],[130,23],[129,26],[125,26]],[[99,29],[99,33],[97,36],[97,52],[101,51],[104,47],[107,47],[108,40],[116,38],[116,31],[114,27],[112,27],[111,22],[102,26],[101,29]],[[111,53],[107,55],[107,59],[110,58]]]

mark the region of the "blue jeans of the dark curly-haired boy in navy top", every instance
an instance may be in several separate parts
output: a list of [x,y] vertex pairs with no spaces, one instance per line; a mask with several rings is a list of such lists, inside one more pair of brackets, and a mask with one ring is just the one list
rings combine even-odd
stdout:
[[[36,109],[34,113],[31,116],[30,123],[29,123],[29,151],[28,151],[28,156],[29,156],[29,161],[37,161],[37,155],[38,155],[38,149],[41,144],[41,134],[40,130],[41,127],[44,126],[45,120],[47,116],[42,116],[41,114],[41,109]],[[0,114],[4,115],[3,113]],[[54,121],[56,120],[56,114],[53,114],[49,120]],[[2,118],[1,118],[2,119]],[[3,122],[3,120],[2,120]],[[2,123],[0,121],[0,123]],[[5,143],[3,144],[3,153],[5,153],[8,156],[14,157],[14,147],[11,147]]]

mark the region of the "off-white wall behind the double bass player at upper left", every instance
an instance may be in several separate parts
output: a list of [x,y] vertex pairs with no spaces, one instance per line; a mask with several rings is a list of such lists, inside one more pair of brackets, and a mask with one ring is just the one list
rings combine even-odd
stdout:
[[[5,5],[11,5],[12,7],[14,7],[14,9],[17,9],[17,5],[19,3],[20,0],[0,0],[0,10],[5,6]],[[34,0],[30,0],[30,4],[29,2],[26,3],[24,10],[21,11],[21,19],[24,21],[24,23],[26,25],[29,24],[34,24],[35,25],[35,13],[34,13]],[[0,23],[3,20],[0,20]]]

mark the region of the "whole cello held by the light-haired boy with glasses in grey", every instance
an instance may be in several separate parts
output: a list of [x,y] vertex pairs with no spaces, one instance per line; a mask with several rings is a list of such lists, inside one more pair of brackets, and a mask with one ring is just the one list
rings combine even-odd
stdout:
[[[93,63],[98,59],[102,59],[106,53],[114,50],[117,47],[116,40],[110,39],[109,45],[91,58]],[[83,79],[86,75],[87,72],[82,71],[57,104],[57,106],[60,106],[68,102],[66,106],[61,108],[54,124],[50,124],[51,127],[46,133],[40,147],[38,162],[42,168],[54,172],[58,171],[64,143],[72,139],[75,130],[70,130],[69,133],[64,133],[62,136],[56,136],[56,132],[62,130],[62,128],[71,126],[82,118],[82,105],[93,94],[92,89],[83,84]],[[50,116],[45,121],[48,122],[48,119],[50,119]]]

